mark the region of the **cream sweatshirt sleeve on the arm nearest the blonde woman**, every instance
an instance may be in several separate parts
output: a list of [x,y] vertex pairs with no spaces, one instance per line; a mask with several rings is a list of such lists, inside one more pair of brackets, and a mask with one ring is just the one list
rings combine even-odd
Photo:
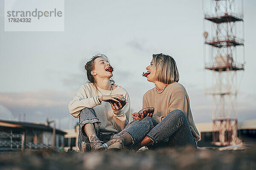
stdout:
[[[118,112],[114,113],[114,120],[116,122],[116,125],[120,128],[120,131],[125,128],[126,125],[128,125],[129,118],[130,118],[130,97],[127,94],[125,94],[126,99],[126,105]],[[118,128],[118,129],[119,129]]]

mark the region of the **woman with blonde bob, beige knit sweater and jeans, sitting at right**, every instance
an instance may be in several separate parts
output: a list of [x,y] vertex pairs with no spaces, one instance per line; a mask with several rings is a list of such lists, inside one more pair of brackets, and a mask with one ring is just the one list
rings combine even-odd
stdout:
[[109,150],[122,150],[124,146],[135,150],[166,146],[197,147],[200,139],[190,109],[186,89],[178,83],[179,72],[175,60],[166,54],[153,54],[145,74],[155,87],[143,96],[143,108],[154,107],[154,114],[133,114],[124,130],[111,139]]

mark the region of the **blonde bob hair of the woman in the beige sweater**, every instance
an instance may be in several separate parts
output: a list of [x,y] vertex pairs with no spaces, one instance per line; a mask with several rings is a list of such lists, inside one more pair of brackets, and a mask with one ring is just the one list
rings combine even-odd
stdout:
[[180,79],[179,71],[175,60],[166,54],[153,54],[153,66],[158,81],[172,84]]

